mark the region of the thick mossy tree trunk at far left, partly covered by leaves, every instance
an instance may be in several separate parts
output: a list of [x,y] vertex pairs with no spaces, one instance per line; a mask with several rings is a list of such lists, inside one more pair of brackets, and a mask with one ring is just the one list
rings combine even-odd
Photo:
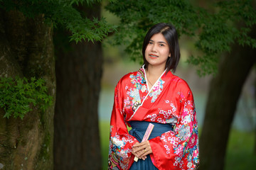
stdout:
[[[43,16],[0,15],[0,77],[43,78],[55,99],[52,27]],[[0,108],[0,169],[53,169],[53,111],[54,103],[44,113],[33,107],[21,120]]]

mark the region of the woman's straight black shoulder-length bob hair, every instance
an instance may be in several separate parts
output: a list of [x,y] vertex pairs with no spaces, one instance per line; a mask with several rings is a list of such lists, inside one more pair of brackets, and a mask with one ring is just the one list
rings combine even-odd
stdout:
[[168,71],[172,70],[173,72],[175,72],[176,67],[178,66],[178,61],[181,57],[181,52],[178,45],[178,34],[176,28],[168,23],[157,23],[156,25],[152,26],[146,33],[142,46],[142,55],[145,64],[145,69],[149,64],[149,62],[146,61],[145,50],[147,45],[149,44],[149,40],[151,39],[151,37],[157,33],[161,33],[162,35],[164,35],[164,38],[168,42],[169,50],[171,53],[171,57],[168,57],[166,61],[165,68]]

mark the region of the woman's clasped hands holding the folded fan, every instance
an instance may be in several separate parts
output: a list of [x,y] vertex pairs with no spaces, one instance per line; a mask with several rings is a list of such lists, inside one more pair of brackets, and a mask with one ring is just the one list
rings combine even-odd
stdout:
[[146,159],[146,155],[151,154],[152,150],[149,144],[149,141],[146,140],[144,142],[141,143],[136,143],[135,145],[133,145],[132,147],[132,154],[134,154],[136,157],[138,157],[139,159]]

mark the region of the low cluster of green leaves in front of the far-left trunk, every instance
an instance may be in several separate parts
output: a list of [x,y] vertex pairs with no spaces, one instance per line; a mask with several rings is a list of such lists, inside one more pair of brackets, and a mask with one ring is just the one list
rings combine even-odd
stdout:
[[0,78],[0,108],[4,108],[4,118],[23,119],[24,115],[32,111],[32,106],[39,106],[46,111],[53,103],[53,97],[47,94],[43,79],[32,77],[29,81],[23,79]]

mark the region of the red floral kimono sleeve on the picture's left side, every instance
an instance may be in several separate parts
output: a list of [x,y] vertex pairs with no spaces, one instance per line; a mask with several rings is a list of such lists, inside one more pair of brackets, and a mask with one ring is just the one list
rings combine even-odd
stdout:
[[[121,80],[120,80],[121,81]],[[114,89],[114,105],[110,120],[109,168],[129,169],[129,162],[133,159],[132,146],[138,142],[129,135],[125,123],[125,113],[122,111],[121,82]]]

